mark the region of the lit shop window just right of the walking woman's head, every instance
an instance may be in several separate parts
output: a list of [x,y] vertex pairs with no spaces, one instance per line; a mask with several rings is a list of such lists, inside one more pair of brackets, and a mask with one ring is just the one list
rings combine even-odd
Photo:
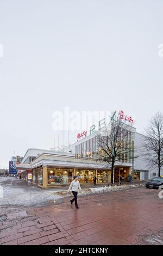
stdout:
[[79,181],[81,183],[93,183],[93,176],[96,175],[96,171],[77,169],[76,175],[79,176]]

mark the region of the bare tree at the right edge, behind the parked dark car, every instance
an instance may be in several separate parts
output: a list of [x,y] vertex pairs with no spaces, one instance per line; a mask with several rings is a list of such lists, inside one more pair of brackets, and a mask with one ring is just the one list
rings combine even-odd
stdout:
[[142,155],[149,166],[158,168],[160,176],[163,166],[163,114],[158,112],[153,115],[145,131]]

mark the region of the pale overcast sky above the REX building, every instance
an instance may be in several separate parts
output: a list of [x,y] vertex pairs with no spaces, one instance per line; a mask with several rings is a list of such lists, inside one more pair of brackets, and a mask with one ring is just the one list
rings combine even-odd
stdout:
[[1,167],[14,151],[58,143],[52,115],[65,106],[123,109],[138,132],[163,112],[162,0],[0,0],[0,7]]

